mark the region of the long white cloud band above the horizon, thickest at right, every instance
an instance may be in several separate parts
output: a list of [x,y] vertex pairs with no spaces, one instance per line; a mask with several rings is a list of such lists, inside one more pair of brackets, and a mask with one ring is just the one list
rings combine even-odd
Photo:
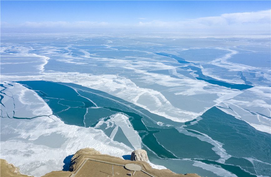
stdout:
[[[24,22],[13,27],[20,28],[47,28],[47,29],[93,29],[111,28],[126,30],[160,30],[160,32],[250,32],[270,33],[271,10],[258,12],[225,13],[214,17],[200,17],[185,21],[147,21],[145,18],[138,18],[144,22],[110,23],[110,22]],[[1,27],[11,27],[11,24],[1,23]]]

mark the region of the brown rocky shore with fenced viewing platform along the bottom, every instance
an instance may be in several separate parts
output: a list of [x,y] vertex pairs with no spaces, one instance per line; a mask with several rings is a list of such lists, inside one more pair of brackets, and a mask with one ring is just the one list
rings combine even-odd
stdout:
[[[154,169],[145,161],[131,161],[124,160],[119,157],[101,154],[99,151],[93,148],[84,148],[78,150],[73,157],[69,165],[69,171],[51,171],[42,177],[70,177],[70,176],[104,176],[103,174],[110,174],[110,170],[115,169],[114,176],[129,176],[134,171],[130,171],[125,168],[127,164],[136,164],[141,166],[141,171],[136,171],[134,176],[172,176],[172,177],[199,177],[197,174],[176,174],[169,169]],[[112,167],[111,167],[112,166]],[[110,167],[110,168],[109,168]],[[99,168],[104,169],[99,171]],[[106,171],[107,170],[107,171]],[[130,173],[129,173],[130,172]],[[106,176],[108,176],[106,175]],[[28,175],[21,174],[19,168],[13,164],[9,164],[7,160],[1,159],[1,176],[17,176],[27,177]]]

